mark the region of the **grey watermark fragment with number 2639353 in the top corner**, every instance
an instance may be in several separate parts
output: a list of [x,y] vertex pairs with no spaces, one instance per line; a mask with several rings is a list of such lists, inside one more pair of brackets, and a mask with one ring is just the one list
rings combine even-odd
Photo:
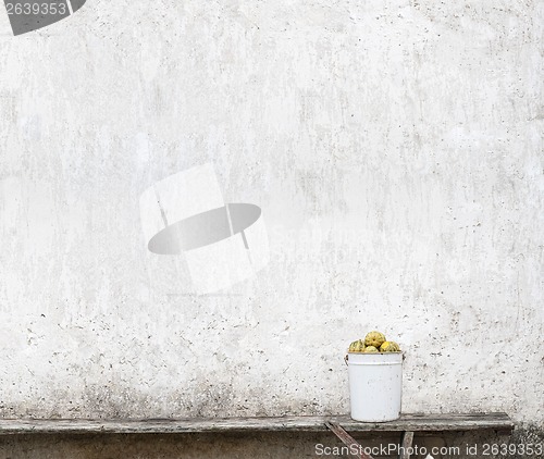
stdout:
[[79,10],[87,0],[4,0],[13,35],[54,24]]

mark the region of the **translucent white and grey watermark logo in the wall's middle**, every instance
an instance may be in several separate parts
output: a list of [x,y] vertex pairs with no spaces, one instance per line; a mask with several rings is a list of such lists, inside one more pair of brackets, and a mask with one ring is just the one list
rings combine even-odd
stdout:
[[197,294],[254,277],[270,260],[261,209],[225,203],[212,164],[158,182],[139,207],[148,250],[185,257]]

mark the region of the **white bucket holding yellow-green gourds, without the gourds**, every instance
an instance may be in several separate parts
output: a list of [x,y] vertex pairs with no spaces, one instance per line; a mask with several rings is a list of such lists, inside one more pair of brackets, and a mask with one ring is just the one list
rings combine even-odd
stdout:
[[403,352],[349,352],[351,418],[363,422],[393,421],[400,417]]

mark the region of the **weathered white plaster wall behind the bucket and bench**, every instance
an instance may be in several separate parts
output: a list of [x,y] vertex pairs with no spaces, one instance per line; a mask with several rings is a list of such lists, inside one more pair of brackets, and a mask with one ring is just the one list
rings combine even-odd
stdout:
[[[0,414],[336,413],[350,340],[405,411],[544,422],[544,2],[103,1],[0,14]],[[212,161],[255,281],[190,294],[138,199]]]

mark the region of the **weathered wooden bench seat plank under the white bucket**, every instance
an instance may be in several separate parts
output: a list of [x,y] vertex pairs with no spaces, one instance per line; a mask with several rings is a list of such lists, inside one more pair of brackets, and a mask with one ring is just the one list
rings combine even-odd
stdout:
[[372,423],[354,421],[347,415],[275,418],[188,418],[188,419],[3,419],[0,435],[9,434],[91,434],[91,433],[191,433],[295,431],[325,432],[325,422],[353,432],[436,432],[499,430],[511,431],[514,422],[505,413],[403,414],[396,421]]

